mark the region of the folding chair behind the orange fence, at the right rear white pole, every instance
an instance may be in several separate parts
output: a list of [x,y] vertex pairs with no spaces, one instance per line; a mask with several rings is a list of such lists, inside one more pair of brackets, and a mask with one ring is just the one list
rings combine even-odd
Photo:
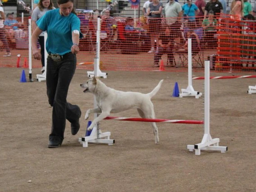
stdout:
[[[183,30],[183,36],[185,39],[187,39],[187,32],[190,31],[190,28],[184,28]],[[200,43],[197,45],[196,48],[192,48],[192,60],[195,61],[195,64],[197,67],[202,67],[204,64],[203,61],[203,49],[201,49],[201,41],[203,39],[204,36],[204,31],[203,31],[203,27],[199,27],[196,29],[193,29],[193,32],[195,32],[200,40]],[[192,45],[193,47],[193,45]],[[174,54],[178,55],[178,62],[180,61],[180,63],[182,64],[182,66],[187,66],[187,50],[176,50],[174,51]],[[195,66],[194,66],[195,67]]]

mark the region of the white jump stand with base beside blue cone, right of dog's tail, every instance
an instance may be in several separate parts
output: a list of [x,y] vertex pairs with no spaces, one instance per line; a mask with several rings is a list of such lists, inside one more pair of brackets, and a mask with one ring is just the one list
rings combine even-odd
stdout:
[[188,86],[187,89],[181,89],[181,92],[179,94],[179,97],[183,96],[195,96],[196,99],[198,99],[200,96],[202,96],[202,93],[195,91],[192,86],[192,41],[191,38],[188,38],[188,45],[187,45],[187,60],[188,60]]

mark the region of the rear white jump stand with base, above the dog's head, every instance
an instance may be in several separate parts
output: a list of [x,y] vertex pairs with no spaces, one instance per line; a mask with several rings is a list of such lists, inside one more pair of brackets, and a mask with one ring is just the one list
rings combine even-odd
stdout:
[[94,58],[94,71],[87,71],[89,78],[101,77],[107,78],[107,73],[102,73],[100,69],[100,50],[101,50],[101,17],[97,18],[97,32],[96,32],[96,57]]

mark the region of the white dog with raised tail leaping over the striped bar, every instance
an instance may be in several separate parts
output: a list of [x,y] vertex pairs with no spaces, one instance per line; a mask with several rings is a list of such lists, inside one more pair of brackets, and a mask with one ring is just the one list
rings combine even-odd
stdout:
[[[147,94],[131,91],[117,91],[107,87],[97,78],[92,78],[86,83],[82,83],[80,86],[85,88],[83,92],[93,93],[97,101],[97,108],[87,110],[85,119],[88,119],[91,113],[101,113],[91,122],[88,130],[91,130],[97,122],[105,119],[110,113],[118,113],[132,108],[137,108],[137,111],[142,118],[155,119],[154,106],[151,102],[151,97],[155,96],[157,91],[159,91],[162,82],[163,80],[158,83],[153,91]],[[151,126],[155,135],[155,144],[157,144],[159,142],[158,128],[154,122],[151,123]]]

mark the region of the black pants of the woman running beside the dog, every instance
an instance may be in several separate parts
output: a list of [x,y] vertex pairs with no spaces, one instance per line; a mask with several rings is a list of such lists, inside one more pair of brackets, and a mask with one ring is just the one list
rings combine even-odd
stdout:
[[50,141],[62,142],[66,119],[70,123],[80,118],[80,109],[77,105],[71,105],[66,101],[69,84],[76,70],[77,58],[69,53],[64,59],[55,62],[47,58],[46,87],[49,104],[52,109],[52,128],[49,136]]

